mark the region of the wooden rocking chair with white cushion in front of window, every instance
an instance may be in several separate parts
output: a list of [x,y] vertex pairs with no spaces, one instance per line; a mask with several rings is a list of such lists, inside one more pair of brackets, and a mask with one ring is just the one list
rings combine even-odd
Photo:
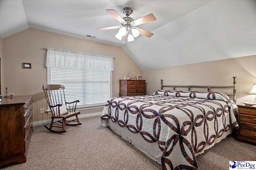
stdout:
[[[60,84],[44,84],[43,90],[44,94],[47,100],[47,103],[50,107],[50,110],[52,112],[52,121],[50,124],[50,127],[46,127],[51,132],[54,133],[64,133],[65,131],[65,125],[68,126],[76,126],[76,125],[82,125],[79,122],[78,114],[80,114],[80,111],[76,111],[76,104],[79,102],[79,100],[76,100],[74,102],[66,102],[65,94],[64,94],[65,87]],[[68,105],[68,106],[67,106]],[[69,110],[69,111],[68,111]],[[69,117],[76,116],[76,119],[72,120],[66,120]],[[68,124],[70,122],[77,122],[76,124]],[[62,126],[53,126],[54,123],[60,122],[62,123]],[[54,131],[52,130],[52,127],[58,127],[62,128],[62,131]]]

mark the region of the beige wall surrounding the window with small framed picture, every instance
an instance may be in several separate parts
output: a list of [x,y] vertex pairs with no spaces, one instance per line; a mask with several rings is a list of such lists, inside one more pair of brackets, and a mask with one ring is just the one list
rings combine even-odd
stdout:
[[[47,83],[46,51],[41,50],[45,47],[115,57],[112,72],[113,97],[118,96],[119,79],[127,75],[129,70],[132,70],[134,76],[142,74],[121,47],[35,29],[16,33],[4,39],[4,86],[8,87],[8,93],[34,95],[34,121],[50,119],[50,115],[39,112],[40,108],[46,109],[42,90],[43,84]],[[32,69],[23,69],[22,63],[32,63]],[[102,108],[87,109],[81,111],[81,114],[100,111]]]

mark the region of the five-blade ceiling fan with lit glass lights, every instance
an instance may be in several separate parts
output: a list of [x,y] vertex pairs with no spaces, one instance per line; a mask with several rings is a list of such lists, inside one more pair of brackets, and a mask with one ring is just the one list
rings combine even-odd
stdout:
[[122,40],[122,38],[126,39],[126,37],[128,37],[128,42],[130,42],[130,41],[134,41],[134,37],[138,37],[140,34],[148,38],[154,35],[149,31],[135,27],[137,25],[156,20],[156,17],[153,14],[148,14],[134,21],[131,17],[129,17],[130,14],[132,14],[132,8],[129,8],[129,7],[126,7],[123,9],[123,13],[126,15],[126,17],[124,18],[122,18],[115,10],[106,10],[106,12],[108,12],[110,15],[116,18],[116,20],[118,20],[122,26],[102,27],[97,29],[108,30],[108,29],[119,28],[119,31],[115,36],[119,40]]

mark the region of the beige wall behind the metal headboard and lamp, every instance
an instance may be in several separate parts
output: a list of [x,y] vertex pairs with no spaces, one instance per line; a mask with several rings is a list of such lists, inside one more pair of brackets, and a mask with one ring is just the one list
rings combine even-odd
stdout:
[[[164,85],[232,86],[233,76],[237,77],[236,103],[254,102],[254,95],[247,92],[256,84],[256,55],[142,71],[147,94],[160,89],[161,79]],[[232,90],[223,92],[232,94]]]

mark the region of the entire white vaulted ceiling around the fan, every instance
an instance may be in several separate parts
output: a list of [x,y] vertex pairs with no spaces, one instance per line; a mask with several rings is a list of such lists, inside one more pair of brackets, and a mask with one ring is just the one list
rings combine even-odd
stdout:
[[[120,25],[106,10],[124,7],[134,20],[154,14],[138,25],[154,35],[123,43],[96,29]],[[1,0],[0,36],[27,28],[121,46],[142,70],[256,55],[255,0]]]

